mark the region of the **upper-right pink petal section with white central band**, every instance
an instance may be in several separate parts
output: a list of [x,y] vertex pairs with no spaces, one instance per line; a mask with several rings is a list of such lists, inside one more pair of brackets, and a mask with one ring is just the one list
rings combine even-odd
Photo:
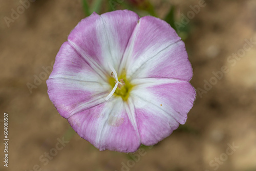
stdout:
[[[140,18],[124,53],[121,68],[130,78],[175,78],[193,75],[184,42],[166,22],[152,16]],[[119,71],[120,73],[120,71]]]

